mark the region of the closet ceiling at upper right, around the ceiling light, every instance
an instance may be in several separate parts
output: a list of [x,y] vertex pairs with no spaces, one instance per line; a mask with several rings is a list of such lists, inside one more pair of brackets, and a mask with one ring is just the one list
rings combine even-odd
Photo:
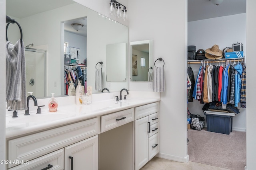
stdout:
[[188,21],[246,13],[246,0],[224,0],[216,6],[209,0],[188,0]]

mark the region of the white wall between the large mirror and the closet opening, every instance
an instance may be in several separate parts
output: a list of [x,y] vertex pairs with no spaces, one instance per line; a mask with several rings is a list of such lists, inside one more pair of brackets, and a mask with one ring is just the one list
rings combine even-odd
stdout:
[[[186,0],[129,0],[128,9],[129,41],[153,39],[153,60],[162,57],[165,62],[166,91],[160,94],[158,156],[186,162]],[[163,64],[156,62],[156,66],[157,63]],[[148,89],[147,82],[129,84],[130,90],[143,88]]]

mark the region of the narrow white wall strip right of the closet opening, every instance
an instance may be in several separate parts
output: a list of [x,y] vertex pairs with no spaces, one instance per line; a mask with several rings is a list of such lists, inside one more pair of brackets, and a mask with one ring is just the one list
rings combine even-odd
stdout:
[[255,45],[256,45],[256,1],[246,0],[246,167],[256,169],[256,114],[255,114]]

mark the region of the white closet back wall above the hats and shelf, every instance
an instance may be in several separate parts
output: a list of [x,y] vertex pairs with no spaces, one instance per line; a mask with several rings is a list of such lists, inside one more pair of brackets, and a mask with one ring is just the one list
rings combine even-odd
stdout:
[[237,42],[246,49],[246,13],[188,22],[188,45],[196,45],[197,50],[214,44],[223,50]]

